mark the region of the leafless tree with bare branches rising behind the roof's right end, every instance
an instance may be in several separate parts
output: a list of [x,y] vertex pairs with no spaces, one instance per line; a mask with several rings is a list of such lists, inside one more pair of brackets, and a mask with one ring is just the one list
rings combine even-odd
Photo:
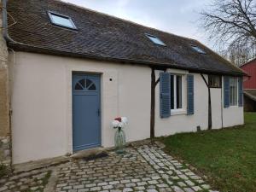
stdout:
[[256,0],[214,0],[201,12],[201,24],[237,65],[256,56]]

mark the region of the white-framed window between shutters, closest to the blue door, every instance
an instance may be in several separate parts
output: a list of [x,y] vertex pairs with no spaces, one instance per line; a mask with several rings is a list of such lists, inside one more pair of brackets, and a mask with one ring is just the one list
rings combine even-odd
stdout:
[[183,108],[183,77],[171,74],[171,109]]

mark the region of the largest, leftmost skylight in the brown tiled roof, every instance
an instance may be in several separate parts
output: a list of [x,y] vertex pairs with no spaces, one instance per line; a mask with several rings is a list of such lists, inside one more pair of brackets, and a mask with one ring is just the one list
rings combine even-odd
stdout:
[[74,25],[73,20],[65,15],[55,14],[49,12],[50,21],[57,26],[64,26],[71,29],[76,29],[77,27]]

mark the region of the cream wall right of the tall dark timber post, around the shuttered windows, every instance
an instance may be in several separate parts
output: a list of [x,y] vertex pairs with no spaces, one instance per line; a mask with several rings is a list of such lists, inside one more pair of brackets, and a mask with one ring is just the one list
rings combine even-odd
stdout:
[[[168,69],[167,72],[184,74],[189,72]],[[157,78],[159,77],[157,73]],[[207,76],[205,76],[207,79]],[[175,134],[178,132],[196,131],[196,127],[201,126],[201,130],[207,130],[208,127],[208,90],[207,85],[201,77],[201,74],[194,73],[195,78],[195,113],[193,115],[187,115],[186,97],[183,102],[183,113],[172,113],[171,117],[166,119],[160,118],[160,85],[158,84],[155,90],[155,135],[157,137]],[[186,81],[186,79],[183,79]],[[183,96],[187,95],[187,87],[184,85]],[[222,110],[221,106],[221,89],[211,88],[212,99],[212,129],[219,129],[222,127],[228,127],[233,125],[243,124],[243,108],[232,107],[223,109],[223,126],[222,126]],[[236,118],[234,118],[236,117]]]

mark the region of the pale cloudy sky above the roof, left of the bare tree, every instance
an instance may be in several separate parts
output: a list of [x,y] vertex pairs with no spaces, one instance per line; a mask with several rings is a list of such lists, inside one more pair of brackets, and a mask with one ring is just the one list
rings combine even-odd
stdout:
[[144,26],[195,38],[211,46],[199,29],[199,12],[212,0],[63,0]]

